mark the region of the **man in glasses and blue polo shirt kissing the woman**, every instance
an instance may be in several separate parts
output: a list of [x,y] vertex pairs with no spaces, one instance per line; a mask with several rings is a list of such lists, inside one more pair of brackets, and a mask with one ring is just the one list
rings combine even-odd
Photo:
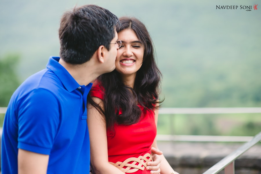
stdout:
[[[86,98],[91,82],[115,69],[120,45],[116,25],[114,14],[95,5],[64,13],[60,57],[50,57],[47,68],[30,76],[10,99],[2,174],[88,173]],[[157,164],[151,166],[156,173]]]

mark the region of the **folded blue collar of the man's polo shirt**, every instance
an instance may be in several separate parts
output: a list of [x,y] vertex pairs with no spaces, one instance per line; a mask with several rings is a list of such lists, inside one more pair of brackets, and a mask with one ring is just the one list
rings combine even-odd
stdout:
[[73,90],[80,87],[80,85],[76,82],[73,76],[71,76],[71,74],[59,63],[59,59],[60,57],[51,56],[46,67],[56,74],[67,91],[72,92]]

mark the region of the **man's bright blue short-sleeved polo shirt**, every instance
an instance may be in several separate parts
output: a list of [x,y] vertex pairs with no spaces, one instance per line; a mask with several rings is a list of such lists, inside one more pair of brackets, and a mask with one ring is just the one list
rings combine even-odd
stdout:
[[2,174],[17,173],[18,149],[49,156],[48,174],[89,173],[86,99],[92,83],[80,86],[50,57],[12,95],[3,123]]

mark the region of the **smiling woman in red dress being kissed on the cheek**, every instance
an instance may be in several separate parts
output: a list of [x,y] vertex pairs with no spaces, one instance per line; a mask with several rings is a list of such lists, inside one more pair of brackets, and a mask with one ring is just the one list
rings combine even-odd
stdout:
[[[161,73],[144,24],[119,20],[116,68],[97,78],[88,97],[91,165],[95,174],[149,174],[151,146],[157,149]],[[161,174],[175,173],[161,158]]]

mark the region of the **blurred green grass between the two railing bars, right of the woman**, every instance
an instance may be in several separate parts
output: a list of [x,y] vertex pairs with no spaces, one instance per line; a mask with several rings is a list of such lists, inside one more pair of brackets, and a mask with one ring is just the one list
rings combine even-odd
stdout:
[[[171,118],[172,117],[172,118]],[[261,113],[160,114],[158,134],[254,136],[261,131]]]

